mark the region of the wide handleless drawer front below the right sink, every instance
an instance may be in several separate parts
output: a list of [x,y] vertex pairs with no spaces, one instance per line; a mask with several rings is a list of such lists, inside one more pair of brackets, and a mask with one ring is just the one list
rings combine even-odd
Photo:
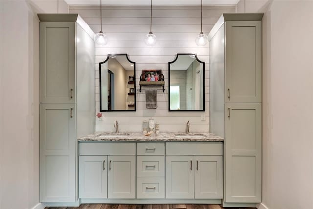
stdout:
[[166,143],[166,155],[223,155],[223,143]]

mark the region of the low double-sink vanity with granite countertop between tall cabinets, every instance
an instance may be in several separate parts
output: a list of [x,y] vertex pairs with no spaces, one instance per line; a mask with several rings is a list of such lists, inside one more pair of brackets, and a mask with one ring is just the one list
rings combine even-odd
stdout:
[[101,132],[78,141],[82,203],[123,203],[121,199],[220,203],[223,198],[221,137],[210,133],[145,136],[140,132]]

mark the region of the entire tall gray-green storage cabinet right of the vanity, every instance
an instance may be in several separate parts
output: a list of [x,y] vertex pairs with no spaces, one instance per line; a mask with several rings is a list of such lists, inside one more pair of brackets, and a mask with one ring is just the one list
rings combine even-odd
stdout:
[[262,17],[223,14],[209,34],[210,132],[224,137],[224,207],[261,202]]

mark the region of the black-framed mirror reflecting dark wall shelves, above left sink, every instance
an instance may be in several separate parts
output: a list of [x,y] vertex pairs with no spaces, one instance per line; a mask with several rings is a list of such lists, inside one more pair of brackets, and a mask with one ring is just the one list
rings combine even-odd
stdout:
[[127,54],[108,54],[99,63],[100,111],[136,111],[135,69]]

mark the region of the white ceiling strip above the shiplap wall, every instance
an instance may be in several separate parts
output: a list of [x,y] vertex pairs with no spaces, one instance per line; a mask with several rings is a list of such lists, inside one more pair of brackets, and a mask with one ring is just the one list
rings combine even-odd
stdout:
[[[239,0],[203,0],[203,5],[236,5]],[[100,0],[65,0],[68,5],[99,5]],[[192,6],[201,0],[153,0],[153,5]],[[150,5],[150,0],[102,0],[102,5]]]

